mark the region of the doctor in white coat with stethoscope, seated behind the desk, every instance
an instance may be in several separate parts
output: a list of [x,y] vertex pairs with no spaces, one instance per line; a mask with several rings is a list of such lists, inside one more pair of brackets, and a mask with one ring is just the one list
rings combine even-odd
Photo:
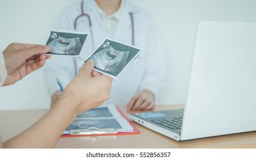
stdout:
[[84,0],[68,6],[53,29],[87,32],[88,37],[79,57],[52,56],[44,67],[46,84],[52,95],[51,106],[60,97],[56,83],[63,86],[75,77],[84,58],[104,38],[140,47],[137,58],[113,79],[111,97],[105,102],[127,106],[127,110],[152,109],[166,87],[166,53],[157,28],[149,13],[127,0]]

